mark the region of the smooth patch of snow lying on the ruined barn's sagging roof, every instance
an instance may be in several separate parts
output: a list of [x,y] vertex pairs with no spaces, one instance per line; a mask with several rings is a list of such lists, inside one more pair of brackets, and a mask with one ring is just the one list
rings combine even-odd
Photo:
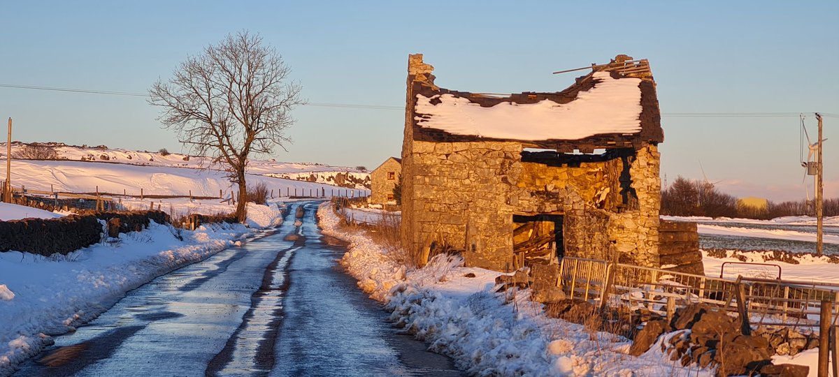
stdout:
[[[614,79],[609,72],[596,72],[593,78],[599,82],[566,104],[543,100],[482,107],[451,94],[418,94],[414,111],[425,115],[416,116],[420,127],[498,139],[577,140],[599,134],[640,132],[641,80]],[[435,99],[440,103],[432,104]]]

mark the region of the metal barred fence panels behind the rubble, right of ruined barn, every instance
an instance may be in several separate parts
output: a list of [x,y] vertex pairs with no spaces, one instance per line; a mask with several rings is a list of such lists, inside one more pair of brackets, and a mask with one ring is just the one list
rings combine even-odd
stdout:
[[672,314],[675,306],[694,302],[736,311],[737,284],[745,288],[751,323],[816,326],[813,317],[819,315],[823,301],[833,302],[834,322],[839,314],[839,287],[833,284],[808,285],[779,279],[743,279],[738,283],[726,278],[575,257],[562,259],[557,282],[571,298],[599,299],[612,306],[644,308],[664,316]]

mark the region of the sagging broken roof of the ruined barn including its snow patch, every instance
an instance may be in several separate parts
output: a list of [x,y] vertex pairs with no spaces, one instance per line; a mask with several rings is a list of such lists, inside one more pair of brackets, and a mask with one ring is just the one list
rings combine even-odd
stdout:
[[664,140],[647,60],[592,65],[590,74],[565,90],[504,97],[446,90],[433,77],[409,76],[414,140],[519,141],[561,152]]

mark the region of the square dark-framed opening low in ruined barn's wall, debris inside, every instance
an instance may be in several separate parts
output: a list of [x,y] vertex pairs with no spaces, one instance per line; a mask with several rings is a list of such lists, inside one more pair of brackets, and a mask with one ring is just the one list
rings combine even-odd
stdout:
[[562,214],[513,214],[513,254],[517,261],[549,262],[565,256]]

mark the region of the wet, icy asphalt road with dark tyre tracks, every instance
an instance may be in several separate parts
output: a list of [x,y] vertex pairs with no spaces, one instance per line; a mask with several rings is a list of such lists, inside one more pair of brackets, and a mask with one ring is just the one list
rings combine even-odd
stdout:
[[316,209],[128,292],[14,375],[461,375],[338,269]]

